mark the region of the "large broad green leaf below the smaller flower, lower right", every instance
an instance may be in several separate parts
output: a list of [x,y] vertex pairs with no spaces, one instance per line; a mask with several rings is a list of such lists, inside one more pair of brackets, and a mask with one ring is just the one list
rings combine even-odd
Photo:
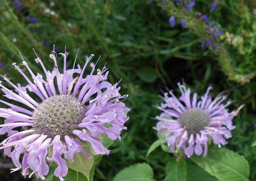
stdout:
[[249,181],[248,162],[227,148],[209,147],[206,157],[193,155],[191,159],[219,181]]

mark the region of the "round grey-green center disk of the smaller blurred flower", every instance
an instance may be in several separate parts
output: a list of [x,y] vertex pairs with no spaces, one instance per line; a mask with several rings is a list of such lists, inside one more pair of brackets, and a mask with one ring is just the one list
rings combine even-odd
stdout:
[[196,134],[209,124],[210,118],[204,109],[191,108],[183,112],[179,121],[181,126],[186,126],[188,134]]

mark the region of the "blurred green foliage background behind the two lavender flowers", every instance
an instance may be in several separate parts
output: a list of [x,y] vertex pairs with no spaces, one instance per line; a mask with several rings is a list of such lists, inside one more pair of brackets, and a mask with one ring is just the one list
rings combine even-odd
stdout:
[[[226,147],[244,155],[250,163],[250,179],[256,179],[256,148],[250,147],[256,140],[254,1],[218,0],[216,11],[210,12],[213,1],[198,0],[194,10],[180,15],[189,24],[184,29],[178,23],[173,28],[168,23],[174,8],[169,12],[161,4],[146,0],[20,0],[19,7],[16,2],[0,1],[1,75],[24,85],[25,80],[12,66],[13,62],[22,62],[19,52],[34,72],[42,73],[32,48],[52,70],[49,54],[55,44],[56,52],[64,52],[66,45],[69,68],[79,49],[76,63],[83,65],[84,55],[96,55],[94,62],[101,55],[98,68],[107,63],[109,81],[115,83],[122,78],[121,94],[129,94],[125,103],[131,108],[130,120],[125,124],[128,130],[122,132],[121,142],[111,145],[111,154],[96,164],[95,181],[111,180],[122,168],[143,161],[151,165],[156,180],[165,178],[165,165],[172,155],[157,148],[145,156],[157,140],[152,129],[156,121],[151,118],[160,111],[153,105],[160,104],[158,95],[166,87],[177,95],[176,83],[182,80],[198,95],[204,94],[209,85],[214,87],[212,96],[221,91],[230,94],[229,98],[236,100],[230,110],[245,104],[233,120],[237,128]],[[224,30],[217,42],[222,45],[218,51],[213,46],[201,49],[206,35],[200,27],[207,25],[193,22],[195,11],[208,14],[210,21]],[[36,20],[33,22],[31,17]],[[58,60],[62,61],[60,57]]]

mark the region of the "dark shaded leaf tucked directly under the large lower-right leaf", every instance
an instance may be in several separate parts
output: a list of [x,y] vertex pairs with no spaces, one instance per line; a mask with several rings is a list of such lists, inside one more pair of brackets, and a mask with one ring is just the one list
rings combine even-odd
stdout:
[[210,175],[200,167],[187,164],[186,181],[218,181],[217,178]]

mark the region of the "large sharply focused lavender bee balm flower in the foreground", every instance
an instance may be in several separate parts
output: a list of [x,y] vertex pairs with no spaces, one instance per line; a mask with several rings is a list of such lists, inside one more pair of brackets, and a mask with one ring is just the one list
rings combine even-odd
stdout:
[[[64,58],[62,73],[58,69],[55,51],[49,55],[54,62],[52,72],[44,67],[40,57],[35,59],[41,65],[44,76],[34,74],[23,60],[20,66],[26,67],[31,75],[29,78],[13,63],[26,79],[26,86],[20,83],[16,86],[6,75],[1,75],[15,89],[14,92],[0,84],[4,96],[24,105],[17,106],[0,100],[10,107],[0,108],[0,117],[5,119],[4,124],[0,125],[0,134],[7,133],[9,136],[0,143],[0,149],[4,149],[5,155],[12,158],[16,166],[12,172],[22,169],[22,175],[30,174],[31,177],[35,173],[44,180],[44,175],[49,172],[47,163],[54,161],[58,164],[54,174],[63,181],[62,177],[67,175],[68,170],[66,161],[73,161],[76,152],[82,152],[89,158],[91,154],[109,154],[100,135],[120,140],[121,130],[126,129],[124,123],[129,118],[124,111],[129,109],[122,100],[128,95],[121,96],[118,83],[112,85],[107,81],[107,68],[95,69],[95,64],[89,63],[94,56],[92,54],[86,57],[82,69],[79,65],[78,68],[67,69],[68,53],[65,51],[60,55]],[[83,77],[88,65],[91,73]],[[94,72],[97,72],[96,75],[93,75]],[[18,127],[22,130],[17,131]],[[91,145],[92,153],[83,150],[83,141]],[[21,154],[22,164],[19,162]]]

